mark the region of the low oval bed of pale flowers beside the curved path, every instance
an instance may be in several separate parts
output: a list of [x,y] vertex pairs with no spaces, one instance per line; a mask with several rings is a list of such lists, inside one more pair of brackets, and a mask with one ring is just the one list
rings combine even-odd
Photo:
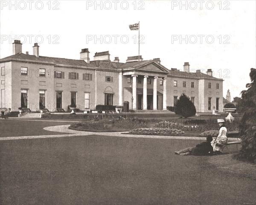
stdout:
[[173,128],[137,128],[129,131],[130,134],[137,135],[180,135],[184,134],[182,130]]

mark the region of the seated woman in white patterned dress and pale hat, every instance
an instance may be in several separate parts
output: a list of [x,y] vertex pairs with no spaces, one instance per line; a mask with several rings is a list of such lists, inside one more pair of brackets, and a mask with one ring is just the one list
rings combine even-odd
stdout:
[[217,138],[213,139],[211,141],[211,145],[212,145],[212,148],[213,148],[213,152],[215,153],[221,153],[220,152],[220,148],[226,144],[227,142],[227,128],[225,127],[225,124],[224,124],[224,119],[218,119],[218,124],[220,126],[220,132],[219,132],[219,135]]

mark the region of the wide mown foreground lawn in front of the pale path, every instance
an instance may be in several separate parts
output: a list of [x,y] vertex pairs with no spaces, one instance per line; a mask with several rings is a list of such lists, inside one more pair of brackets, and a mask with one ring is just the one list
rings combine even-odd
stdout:
[[256,203],[254,165],[230,154],[174,154],[192,144],[109,136],[63,137],[56,146],[4,143],[0,204]]

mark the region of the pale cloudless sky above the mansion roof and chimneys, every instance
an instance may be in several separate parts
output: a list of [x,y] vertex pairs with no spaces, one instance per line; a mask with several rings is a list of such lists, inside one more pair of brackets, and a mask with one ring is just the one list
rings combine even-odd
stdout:
[[167,69],[212,69],[222,78],[223,95],[240,97],[256,68],[256,1],[5,1],[0,10],[0,58],[12,55],[12,43],[20,40],[22,52],[79,59],[88,48],[109,51],[111,61],[138,55],[138,31],[129,25],[140,22],[140,55],[160,58]]

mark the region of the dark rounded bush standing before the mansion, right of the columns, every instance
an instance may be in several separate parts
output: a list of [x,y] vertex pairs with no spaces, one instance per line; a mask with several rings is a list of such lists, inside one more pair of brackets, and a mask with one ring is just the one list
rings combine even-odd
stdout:
[[177,100],[175,114],[182,115],[183,117],[187,118],[194,116],[195,113],[195,105],[191,102],[190,98],[185,94],[181,94],[180,98]]

